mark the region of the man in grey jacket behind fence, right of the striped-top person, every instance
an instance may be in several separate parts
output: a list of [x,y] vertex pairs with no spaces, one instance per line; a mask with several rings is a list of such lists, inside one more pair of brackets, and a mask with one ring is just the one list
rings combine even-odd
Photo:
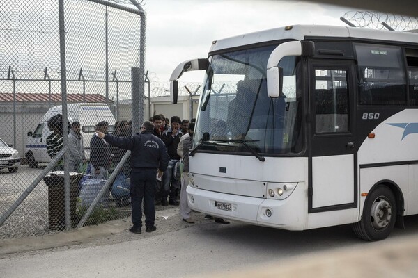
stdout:
[[68,151],[70,152],[70,171],[78,172],[79,165],[86,163],[86,155],[84,154],[83,136],[79,122],[71,124],[70,134],[68,134]]

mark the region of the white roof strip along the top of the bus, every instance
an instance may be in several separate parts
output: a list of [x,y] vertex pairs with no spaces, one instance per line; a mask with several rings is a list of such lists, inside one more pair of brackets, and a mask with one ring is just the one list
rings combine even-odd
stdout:
[[305,37],[356,38],[418,44],[418,33],[373,30],[349,26],[293,25],[291,28],[288,27],[274,28],[217,40],[212,43],[210,52],[274,40],[304,40]]

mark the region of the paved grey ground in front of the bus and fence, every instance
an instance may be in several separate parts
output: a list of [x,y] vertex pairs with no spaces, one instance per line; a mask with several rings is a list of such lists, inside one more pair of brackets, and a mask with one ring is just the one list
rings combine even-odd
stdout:
[[417,277],[415,224],[366,243],[349,238],[348,227],[295,232],[212,224],[199,213],[194,218],[200,225],[181,221],[178,208],[169,208],[157,212],[155,233],[132,234],[124,219],[0,240],[0,277]]

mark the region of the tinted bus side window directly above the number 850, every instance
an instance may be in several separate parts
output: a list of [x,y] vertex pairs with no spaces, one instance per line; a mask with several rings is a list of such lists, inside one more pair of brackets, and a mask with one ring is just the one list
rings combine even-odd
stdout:
[[355,44],[360,105],[405,105],[406,76],[401,47]]

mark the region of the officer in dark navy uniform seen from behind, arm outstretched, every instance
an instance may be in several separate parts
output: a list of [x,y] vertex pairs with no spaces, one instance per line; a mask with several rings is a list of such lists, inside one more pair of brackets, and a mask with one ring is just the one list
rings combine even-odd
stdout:
[[121,138],[98,132],[100,138],[121,149],[131,151],[131,186],[132,233],[141,234],[142,198],[144,197],[144,213],[146,231],[155,231],[155,183],[169,164],[169,155],[164,142],[153,135],[153,122],[146,121],[141,126],[141,134],[131,138]]

